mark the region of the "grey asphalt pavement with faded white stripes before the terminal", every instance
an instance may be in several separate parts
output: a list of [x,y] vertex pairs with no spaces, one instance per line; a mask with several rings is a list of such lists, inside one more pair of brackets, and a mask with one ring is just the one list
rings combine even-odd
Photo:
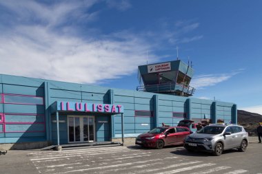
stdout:
[[144,149],[110,146],[63,151],[8,151],[0,155],[0,173],[254,173],[262,174],[262,144],[250,138],[248,150],[189,153],[183,146]]

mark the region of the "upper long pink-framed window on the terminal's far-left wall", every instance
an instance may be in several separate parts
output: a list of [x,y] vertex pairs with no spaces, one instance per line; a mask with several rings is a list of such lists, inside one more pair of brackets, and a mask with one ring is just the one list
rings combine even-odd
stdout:
[[43,105],[43,98],[19,94],[3,94],[3,102],[10,104]]

